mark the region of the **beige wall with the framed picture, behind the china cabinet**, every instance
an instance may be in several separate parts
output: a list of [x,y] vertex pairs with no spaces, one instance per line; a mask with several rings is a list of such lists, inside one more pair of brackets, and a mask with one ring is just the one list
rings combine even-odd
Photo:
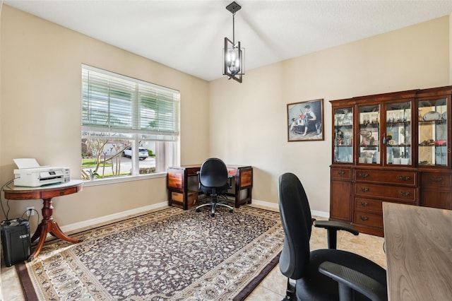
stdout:
[[[243,41],[245,43],[245,41]],[[449,84],[448,17],[210,83],[210,149],[254,166],[253,199],[278,203],[278,177],[294,172],[311,209],[329,211],[329,100]],[[252,54],[249,49],[247,56]],[[288,103],[323,98],[325,141],[287,142]],[[227,112],[227,113],[225,113]]]

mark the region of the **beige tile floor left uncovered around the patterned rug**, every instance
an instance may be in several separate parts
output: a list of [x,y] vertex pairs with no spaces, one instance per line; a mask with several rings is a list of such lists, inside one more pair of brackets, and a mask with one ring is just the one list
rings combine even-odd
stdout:
[[[319,220],[324,218],[315,217]],[[311,249],[327,247],[326,231],[313,228],[311,234]],[[376,237],[360,233],[358,236],[348,232],[338,232],[338,249],[354,252],[371,259],[386,268],[386,256],[383,252],[383,237]],[[287,278],[280,273],[279,266],[275,266],[258,287],[246,298],[246,301],[282,300],[285,296]],[[1,262],[1,292],[8,301],[23,301],[22,289],[16,274],[16,268],[7,268],[3,258]]]

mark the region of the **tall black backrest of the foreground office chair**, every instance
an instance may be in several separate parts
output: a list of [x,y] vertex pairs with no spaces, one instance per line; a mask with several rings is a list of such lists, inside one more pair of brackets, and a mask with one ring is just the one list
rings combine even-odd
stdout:
[[285,173],[279,179],[279,208],[284,229],[280,271],[284,276],[299,279],[309,265],[311,209],[303,185],[296,175]]

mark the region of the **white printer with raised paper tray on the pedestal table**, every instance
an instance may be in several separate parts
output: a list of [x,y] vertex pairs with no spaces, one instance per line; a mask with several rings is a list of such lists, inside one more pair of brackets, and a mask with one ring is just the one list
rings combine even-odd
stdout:
[[71,180],[69,167],[40,166],[36,159],[14,159],[14,185],[40,187],[45,184],[66,183]]

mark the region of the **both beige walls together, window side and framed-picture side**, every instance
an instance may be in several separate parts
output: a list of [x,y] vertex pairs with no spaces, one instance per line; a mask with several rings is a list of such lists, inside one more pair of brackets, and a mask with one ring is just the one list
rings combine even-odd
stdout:
[[[316,211],[329,211],[328,100],[448,85],[449,18],[207,83],[4,5],[1,12],[0,182],[13,158],[80,173],[80,68],[90,64],[181,91],[182,164],[218,156],[254,167],[253,199],[278,203],[278,177],[295,172]],[[247,56],[258,55],[247,48]],[[51,85],[51,83],[53,83]],[[323,98],[325,141],[287,142],[286,105]],[[60,225],[166,199],[165,177],[85,187],[55,199]],[[36,201],[10,201],[20,216]]]

